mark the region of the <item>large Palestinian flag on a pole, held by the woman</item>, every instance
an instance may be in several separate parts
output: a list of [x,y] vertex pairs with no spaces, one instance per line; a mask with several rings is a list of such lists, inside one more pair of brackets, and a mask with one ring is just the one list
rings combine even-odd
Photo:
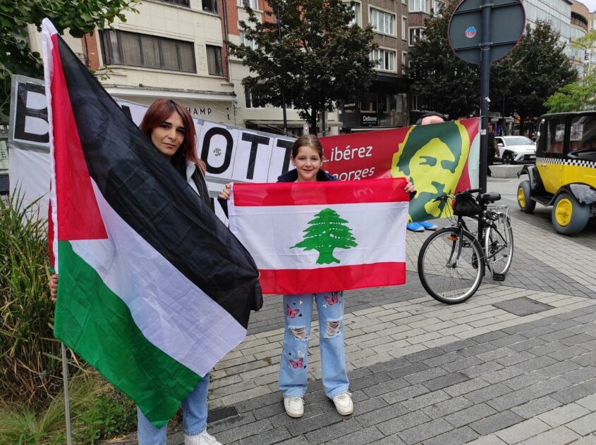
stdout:
[[54,335],[157,427],[245,337],[250,254],[43,23]]

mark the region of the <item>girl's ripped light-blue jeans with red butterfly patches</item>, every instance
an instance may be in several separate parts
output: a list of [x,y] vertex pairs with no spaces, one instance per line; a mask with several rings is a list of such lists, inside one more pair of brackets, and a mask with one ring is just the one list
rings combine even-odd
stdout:
[[284,397],[302,397],[306,392],[313,300],[319,313],[325,394],[333,399],[348,391],[346,359],[343,356],[343,292],[284,295],[284,348],[279,364],[279,389]]

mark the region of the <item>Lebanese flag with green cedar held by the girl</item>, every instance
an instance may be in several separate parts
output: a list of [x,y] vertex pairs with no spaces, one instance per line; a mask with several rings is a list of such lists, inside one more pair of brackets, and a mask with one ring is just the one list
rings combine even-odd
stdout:
[[230,230],[265,294],[406,282],[406,180],[233,184]]

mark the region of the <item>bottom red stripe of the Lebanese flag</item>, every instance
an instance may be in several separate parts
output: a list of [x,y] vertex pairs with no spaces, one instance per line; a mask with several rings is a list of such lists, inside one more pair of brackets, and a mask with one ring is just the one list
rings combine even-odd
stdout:
[[[260,269],[263,294],[303,294],[334,292],[363,287],[397,286],[406,282],[406,263],[339,265],[317,269]],[[317,285],[318,284],[318,285]]]

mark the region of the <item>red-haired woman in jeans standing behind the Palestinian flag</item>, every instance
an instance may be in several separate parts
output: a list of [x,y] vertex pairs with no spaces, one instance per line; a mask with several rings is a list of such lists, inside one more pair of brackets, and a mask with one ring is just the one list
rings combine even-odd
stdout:
[[[158,99],[147,109],[140,130],[213,210],[205,183],[205,163],[195,152],[195,126],[188,110],[171,99]],[[56,275],[50,278],[49,287],[51,299],[55,301],[58,289]],[[185,445],[221,445],[207,433],[208,387],[207,373],[182,401]],[[154,427],[139,409],[137,411],[139,445],[165,445],[167,425]]]

